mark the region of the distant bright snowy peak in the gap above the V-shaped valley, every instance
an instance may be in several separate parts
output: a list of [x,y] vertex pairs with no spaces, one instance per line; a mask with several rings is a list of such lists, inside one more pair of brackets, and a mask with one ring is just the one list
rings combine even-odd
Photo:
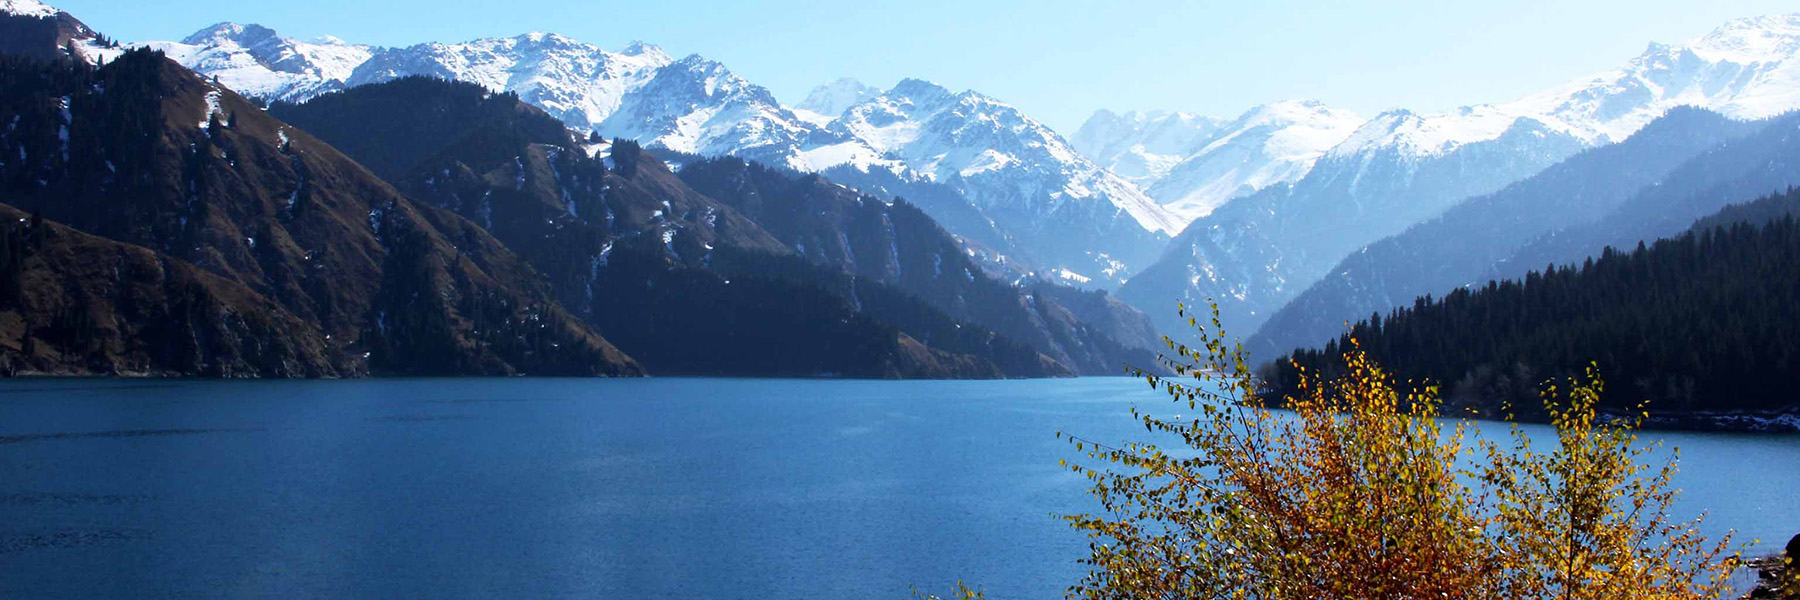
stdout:
[[1361,123],[1316,101],[1264,105],[1231,121],[1102,110],[1075,133],[1075,144],[1193,222],[1235,196],[1300,180]]

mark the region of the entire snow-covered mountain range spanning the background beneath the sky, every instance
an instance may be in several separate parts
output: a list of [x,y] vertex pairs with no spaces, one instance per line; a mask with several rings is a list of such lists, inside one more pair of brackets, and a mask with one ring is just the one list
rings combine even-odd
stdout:
[[783,106],[700,56],[544,32],[380,49],[220,23],[149,45],[252,95],[293,101],[425,74],[515,92],[572,128],[646,148],[945,184],[959,198],[922,207],[976,241],[990,270],[1010,268],[997,274],[1102,288],[1138,279],[1121,297],[1152,315],[1215,297],[1247,332],[1357,247],[1618,142],[1669,108],[1755,119],[1800,105],[1795,31],[1795,16],[1739,20],[1611,72],[1447,114],[1364,121],[1312,101],[1237,119],[1100,112],[1069,141],[1010,105],[923,79],[889,90],[839,79]]

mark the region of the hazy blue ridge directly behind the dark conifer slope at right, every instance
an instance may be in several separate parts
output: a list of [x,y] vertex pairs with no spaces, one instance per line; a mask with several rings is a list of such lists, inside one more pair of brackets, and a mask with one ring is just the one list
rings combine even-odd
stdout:
[[1582,151],[1494,195],[1345,258],[1249,341],[1282,351],[1420,295],[1516,279],[1685,231],[1733,202],[1800,184],[1800,115],[1733,121],[1678,108],[1613,146]]

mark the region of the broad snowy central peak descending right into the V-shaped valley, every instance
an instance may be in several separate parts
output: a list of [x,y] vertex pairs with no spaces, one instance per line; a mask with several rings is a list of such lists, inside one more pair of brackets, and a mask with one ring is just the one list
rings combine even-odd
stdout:
[[1049,126],[976,92],[905,79],[844,110],[805,166],[895,169],[961,191],[1039,272],[1112,285],[1156,258],[1181,222],[1087,160]]

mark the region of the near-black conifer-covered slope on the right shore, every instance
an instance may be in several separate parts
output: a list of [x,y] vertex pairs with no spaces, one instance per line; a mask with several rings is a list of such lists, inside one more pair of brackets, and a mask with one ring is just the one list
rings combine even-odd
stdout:
[[[1397,375],[1444,386],[1453,411],[1541,418],[1539,386],[1600,366],[1602,407],[1651,413],[1771,411],[1800,384],[1800,222],[1789,189],[1636,250],[1458,288],[1372,315],[1323,350],[1264,368],[1291,391],[1296,366],[1336,373],[1355,339]],[[1728,220],[1741,216],[1744,220]]]

